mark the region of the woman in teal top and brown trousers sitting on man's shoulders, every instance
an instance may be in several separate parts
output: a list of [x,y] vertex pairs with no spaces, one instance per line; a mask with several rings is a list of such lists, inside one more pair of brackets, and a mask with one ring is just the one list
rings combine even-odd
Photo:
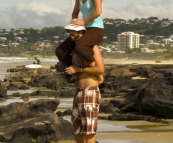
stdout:
[[[83,19],[78,18],[79,12],[82,12]],[[55,53],[60,62],[71,65],[70,53],[74,48],[82,62],[90,64],[94,61],[93,46],[99,45],[104,36],[101,14],[102,0],[76,0],[70,24],[85,25],[87,31],[77,43],[67,38],[57,47]]]

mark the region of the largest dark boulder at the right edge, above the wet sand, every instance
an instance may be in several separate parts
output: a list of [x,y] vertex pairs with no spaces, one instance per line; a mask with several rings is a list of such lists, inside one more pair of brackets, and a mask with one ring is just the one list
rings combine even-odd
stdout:
[[126,113],[134,111],[158,117],[173,118],[172,93],[172,86],[157,85],[155,80],[151,80],[148,85],[129,92],[126,95],[126,103],[121,110]]

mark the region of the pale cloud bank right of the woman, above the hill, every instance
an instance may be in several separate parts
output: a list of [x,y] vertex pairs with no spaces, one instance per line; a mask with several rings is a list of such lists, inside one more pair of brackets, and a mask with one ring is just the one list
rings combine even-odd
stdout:
[[104,9],[104,18],[122,18],[122,19],[134,19],[134,18],[148,18],[150,16],[156,16],[159,19],[169,18],[173,19],[173,1],[172,0],[160,0],[150,4],[135,4],[126,5],[120,9]]

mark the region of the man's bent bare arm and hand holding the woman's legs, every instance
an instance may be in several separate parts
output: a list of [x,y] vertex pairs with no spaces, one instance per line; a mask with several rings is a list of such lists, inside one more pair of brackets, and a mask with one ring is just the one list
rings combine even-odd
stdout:
[[[103,58],[102,58],[100,49],[97,45],[95,45],[93,48],[93,51],[94,51],[93,57],[95,60],[94,61],[95,65],[82,68],[82,72],[94,74],[94,75],[99,75],[99,74],[103,75],[104,74],[104,63],[103,63]],[[69,74],[69,75],[75,74],[78,72],[78,68],[79,67],[72,65],[65,69],[65,73]]]

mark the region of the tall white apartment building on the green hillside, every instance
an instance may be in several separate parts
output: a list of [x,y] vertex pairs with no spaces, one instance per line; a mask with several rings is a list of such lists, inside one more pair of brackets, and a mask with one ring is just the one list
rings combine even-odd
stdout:
[[134,32],[123,32],[118,34],[118,50],[126,51],[128,48],[139,48],[140,35]]

